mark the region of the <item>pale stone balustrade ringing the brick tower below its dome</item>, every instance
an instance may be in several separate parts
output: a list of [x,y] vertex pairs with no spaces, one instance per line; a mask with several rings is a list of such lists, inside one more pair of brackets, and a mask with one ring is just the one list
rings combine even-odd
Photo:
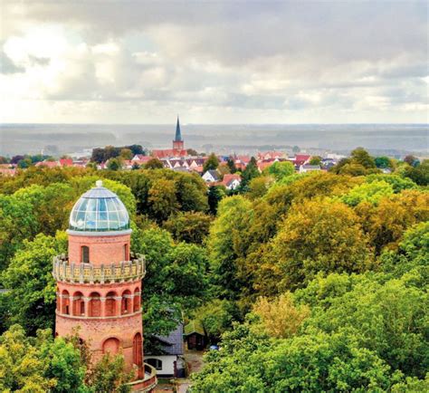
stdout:
[[74,264],[64,254],[54,256],[52,261],[53,278],[69,283],[126,282],[142,279],[145,274],[145,257],[140,254],[132,261],[117,264]]

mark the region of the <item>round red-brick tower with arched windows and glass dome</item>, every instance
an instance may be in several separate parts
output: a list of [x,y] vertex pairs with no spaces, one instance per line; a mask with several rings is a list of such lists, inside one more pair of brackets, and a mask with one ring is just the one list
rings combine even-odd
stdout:
[[67,233],[69,255],[53,260],[55,335],[70,335],[78,328],[93,361],[108,352],[122,353],[126,369],[135,371],[133,390],[150,390],[157,378],[143,363],[140,293],[145,260],[130,256],[126,207],[99,180],[73,206]]

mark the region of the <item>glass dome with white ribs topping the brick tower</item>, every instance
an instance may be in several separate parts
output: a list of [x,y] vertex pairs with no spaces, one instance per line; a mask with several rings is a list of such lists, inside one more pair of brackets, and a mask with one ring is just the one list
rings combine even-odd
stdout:
[[119,197],[96,182],[71,209],[69,229],[83,232],[106,232],[129,229],[129,213]]

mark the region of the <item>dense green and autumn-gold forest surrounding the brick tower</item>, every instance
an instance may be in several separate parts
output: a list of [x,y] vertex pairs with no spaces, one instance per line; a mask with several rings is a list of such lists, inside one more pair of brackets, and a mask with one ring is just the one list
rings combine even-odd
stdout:
[[91,369],[53,340],[52,256],[95,180],[146,255],[145,348],[176,321],[212,343],[193,392],[428,391],[429,162],[355,149],[329,172],[252,163],[234,192],[162,168],[28,168],[0,177],[0,390],[127,391],[122,359]]

